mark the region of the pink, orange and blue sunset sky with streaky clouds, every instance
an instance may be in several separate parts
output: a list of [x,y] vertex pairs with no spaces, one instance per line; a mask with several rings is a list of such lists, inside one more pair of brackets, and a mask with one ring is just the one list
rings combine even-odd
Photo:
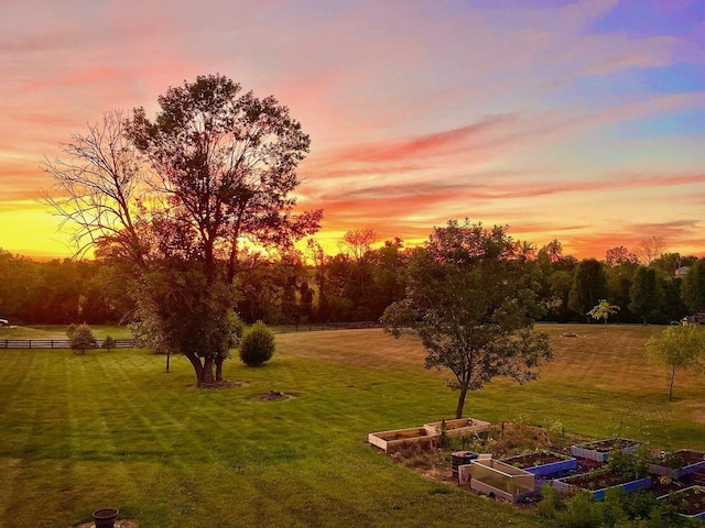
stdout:
[[705,255],[704,0],[23,0],[0,18],[0,248],[69,256],[44,156],[219,73],[312,138],[302,208],[419,242],[468,217],[603,258]]

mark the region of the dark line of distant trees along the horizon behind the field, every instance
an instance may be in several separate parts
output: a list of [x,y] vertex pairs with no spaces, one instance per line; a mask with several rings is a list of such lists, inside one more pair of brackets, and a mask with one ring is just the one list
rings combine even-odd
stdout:
[[[377,321],[404,296],[411,248],[400,239],[376,242],[375,231],[358,229],[334,255],[315,239],[307,250],[275,256],[245,251],[232,309],[249,323]],[[669,323],[705,311],[705,258],[664,253],[644,265],[614,253],[578,261],[564,255],[557,240],[524,251],[522,265],[532,271],[544,308],[538,320],[589,322],[601,299],[619,307],[610,322]],[[0,249],[0,317],[13,323],[129,322],[135,305],[121,275],[105,258],[39,262]]]

